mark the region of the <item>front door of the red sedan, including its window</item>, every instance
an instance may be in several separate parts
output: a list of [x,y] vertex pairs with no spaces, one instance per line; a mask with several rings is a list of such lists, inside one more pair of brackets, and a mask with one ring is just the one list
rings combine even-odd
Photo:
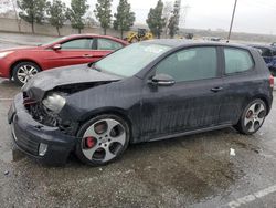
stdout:
[[49,69],[94,62],[96,42],[93,38],[76,38],[61,43],[61,49],[49,49],[44,59]]

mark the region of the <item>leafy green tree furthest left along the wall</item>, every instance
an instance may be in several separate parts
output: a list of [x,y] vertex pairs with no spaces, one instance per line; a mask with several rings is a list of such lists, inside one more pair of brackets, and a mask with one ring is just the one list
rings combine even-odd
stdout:
[[34,23],[41,24],[45,17],[46,0],[18,0],[18,7],[21,10],[19,17],[32,24],[34,33]]

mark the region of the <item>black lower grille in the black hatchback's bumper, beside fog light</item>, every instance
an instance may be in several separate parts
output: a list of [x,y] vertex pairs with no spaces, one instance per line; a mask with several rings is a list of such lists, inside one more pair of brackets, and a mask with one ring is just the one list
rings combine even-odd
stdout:
[[40,143],[32,141],[25,135],[25,132],[21,131],[17,125],[14,125],[14,136],[17,137],[15,141],[19,147],[32,155],[38,155]]

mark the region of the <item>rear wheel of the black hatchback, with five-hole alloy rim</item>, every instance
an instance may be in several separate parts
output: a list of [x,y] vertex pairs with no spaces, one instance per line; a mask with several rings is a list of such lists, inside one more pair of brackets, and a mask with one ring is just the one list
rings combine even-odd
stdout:
[[264,124],[267,107],[261,98],[252,101],[243,111],[243,114],[234,127],[242,134],[256,133]]

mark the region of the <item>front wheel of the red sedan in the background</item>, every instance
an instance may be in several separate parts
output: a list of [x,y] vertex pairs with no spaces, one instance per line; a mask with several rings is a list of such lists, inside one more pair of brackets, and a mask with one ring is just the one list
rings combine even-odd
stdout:
[[40,66],[33,62],[20,62],[12,69],[12,76],[17,84],[24,85],[40,71]]

